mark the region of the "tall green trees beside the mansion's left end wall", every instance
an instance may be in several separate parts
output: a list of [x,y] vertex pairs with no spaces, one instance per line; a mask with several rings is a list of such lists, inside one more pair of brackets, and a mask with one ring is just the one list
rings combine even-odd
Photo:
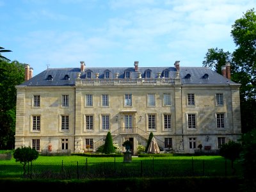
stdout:
[[0,60],[0,147],[13,148],[15,143],[16,88],[24,82],[24,66],[18,61]]

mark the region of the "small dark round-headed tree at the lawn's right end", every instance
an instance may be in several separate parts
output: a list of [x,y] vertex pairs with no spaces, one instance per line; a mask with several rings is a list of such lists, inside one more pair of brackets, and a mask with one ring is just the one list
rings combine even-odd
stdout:
[[231,161],[231,168],[234,170],[233,174],[236,173],[234,161],[239,158],[241,150],[242,145],[240,143],[236,143],[235,141],[230,140],[228,143],[221,145],[220,156]]

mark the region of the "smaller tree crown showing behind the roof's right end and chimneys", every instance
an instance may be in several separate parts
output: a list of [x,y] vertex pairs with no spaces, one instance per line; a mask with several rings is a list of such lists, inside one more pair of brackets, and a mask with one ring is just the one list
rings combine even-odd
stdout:
[[225,65],[227,61],[232,60],[232,54],[230,52],[224,52],[223,49],[208,49],[205,55],[205,61],[203,61],[204,67],[212,68],[212,70],[221,74],[221,66]]

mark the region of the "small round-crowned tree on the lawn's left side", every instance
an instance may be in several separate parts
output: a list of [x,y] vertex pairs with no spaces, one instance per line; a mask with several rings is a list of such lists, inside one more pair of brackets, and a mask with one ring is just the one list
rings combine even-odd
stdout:
[[36,160],[39,156],[38,151],[35,150],[35,148],[29,147],[18,147],[15,149],[13,152],[13,158],[15,159],[16,162],[20,162],[23,164],[23,176],[26,178],[26,164],[28,163],[28,173],[29,173],[29,163],[31,163],[32,166],[32,161]]

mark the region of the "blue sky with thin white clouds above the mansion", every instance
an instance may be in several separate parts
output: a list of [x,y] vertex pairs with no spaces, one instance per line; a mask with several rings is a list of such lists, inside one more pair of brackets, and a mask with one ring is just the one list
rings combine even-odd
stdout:
[[0,0],[3,56],[47,68],[202,67],[255,0]]

